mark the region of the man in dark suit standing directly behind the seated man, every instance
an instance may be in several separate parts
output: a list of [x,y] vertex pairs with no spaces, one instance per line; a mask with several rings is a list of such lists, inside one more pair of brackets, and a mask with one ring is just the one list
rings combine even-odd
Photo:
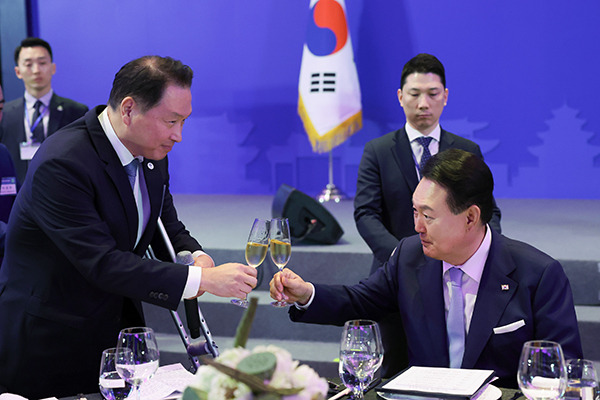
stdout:
[[[397,95],[406,125],[368,142],[358,170],[354,220],[373,252],[371,274],[388,260],[400,239],[415,234],[411,200],[420,165],[430,155],[450,148],[482,158],[477,144],[440,127],[448,88],[444,66],[436,57],[419,54],[409,60],[402,69]],[[500,209],[495,204],[490,226],[500,232]],[[382,373],[391,376],[406,366],[406,343],[398,315],[388,316],[380,325],[390,355]]]

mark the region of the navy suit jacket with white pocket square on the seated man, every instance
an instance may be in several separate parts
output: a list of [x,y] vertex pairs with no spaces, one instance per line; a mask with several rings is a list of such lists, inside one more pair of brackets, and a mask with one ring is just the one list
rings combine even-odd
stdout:
[[[403,239],[389,262],[354,286],[315,284],[308,310],[291,307],[293,321],[342,325],[399,311],[411,365],[448,367],[442,262],[423,254],[418,235]],[[494,328],[523,321],[502,333]],[[539,250],[492,232],[462,368],[492,369],[497,385],[516,387],[523,343],[560,343],[565,358],[582,357],[569,281],[560,263]],[[384,355],[385,358],[385,355]]]

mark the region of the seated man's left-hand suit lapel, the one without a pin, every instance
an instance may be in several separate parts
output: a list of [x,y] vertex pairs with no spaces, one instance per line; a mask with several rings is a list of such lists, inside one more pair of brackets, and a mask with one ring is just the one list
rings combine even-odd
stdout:
[[421,302],[423,304],[423,315],[426,318],[427,330],[423,335],[428,338],[420,338],[419,341],[427,343],[432,348],[430,354],[439,354],[439,365],[449,365],[448,340],[446,335],[446,314],[444,306],[444,291],[442,287],[442,262],[432,258],[423,257],[424,262],[417,271],[419,287],[421,290]]

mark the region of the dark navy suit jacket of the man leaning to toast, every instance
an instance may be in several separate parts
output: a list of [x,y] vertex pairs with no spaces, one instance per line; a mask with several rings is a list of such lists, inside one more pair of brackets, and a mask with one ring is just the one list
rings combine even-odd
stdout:
[[[145,160],[151,215],[137,209],[96,107],[42,143],[13,206],[0,267],[0,386],[28,398],[98,390],[103,349],[144,324],[141,302],[175,309],[188,267],[143,259],[162,242],[200,250],[178,220],[167,158]],[[162,246],[164,247],[164,246]]]

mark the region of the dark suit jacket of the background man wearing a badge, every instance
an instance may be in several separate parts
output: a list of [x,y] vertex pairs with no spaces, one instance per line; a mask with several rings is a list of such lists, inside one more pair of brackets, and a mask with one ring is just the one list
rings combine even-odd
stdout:
[[[47,136],[82,117],[88,107],[66,97],[57,96],[56,93],[50,99],[50,118],[48,120]],[[4,118],[0,123],[0,143],[3,143],[17,170],[17,180],[23,184],[29,161],[21,160],[19,144],[26,140],[25,136],[25,100],[23,97],[9,101],[4,105]]]

